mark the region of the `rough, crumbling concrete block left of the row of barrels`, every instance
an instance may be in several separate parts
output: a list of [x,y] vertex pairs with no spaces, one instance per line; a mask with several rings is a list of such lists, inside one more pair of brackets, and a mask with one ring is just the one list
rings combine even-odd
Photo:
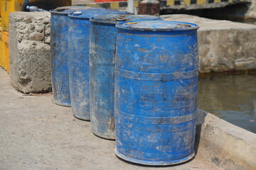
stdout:
[[14,12],[9,15],[10,76],[23,93],[51,90],[50,13]]

